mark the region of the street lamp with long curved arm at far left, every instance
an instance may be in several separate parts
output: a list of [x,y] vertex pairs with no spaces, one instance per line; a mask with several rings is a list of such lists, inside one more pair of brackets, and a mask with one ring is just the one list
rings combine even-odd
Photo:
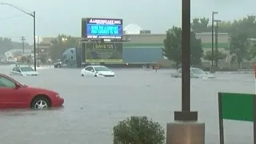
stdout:
[[36,53],[35,53],[35,47],[36,47],[36,42],[35,42],[35,11],[33,12],[33,14],[30,14],[29,12],[26,12],[25,10],[22,10],[22,9],[18,8],[17,6],[14,6],[10,3],[0,3],[0,5],[6,5],[6,6],[13,7],[14,9],[20,10],[23,13],[25,13],[27,15],[30,15],[33,18],[33,20],[34,20],[34,70],[36,71],[37,70],[37,62],[36,62]]

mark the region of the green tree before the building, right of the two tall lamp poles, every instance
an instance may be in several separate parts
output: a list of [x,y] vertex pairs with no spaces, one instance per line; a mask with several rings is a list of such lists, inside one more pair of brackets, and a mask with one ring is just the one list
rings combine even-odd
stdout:
[[247,34],[238,34],[230,37],[230,54],[234,54],[236,57],[236,62],[238,62],[239,67],[241,63],[246,58],[249,58],[249,49],[250,46],[248,41]]

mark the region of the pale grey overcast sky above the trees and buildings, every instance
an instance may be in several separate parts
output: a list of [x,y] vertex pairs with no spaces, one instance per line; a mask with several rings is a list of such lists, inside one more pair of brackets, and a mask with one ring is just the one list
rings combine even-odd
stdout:
[[[36,11],[36,34],[42,37],[81,35],[81,18],[122,18],[124,27],[136,23],[152,33],[181,25],[181,0],[0,0],[23,10]],[[256,15],[255,0],[191,0],[191,18],[234,20]],[[33,18],[10,6],[0,6],[0,36],[27,42],[33,39]]]

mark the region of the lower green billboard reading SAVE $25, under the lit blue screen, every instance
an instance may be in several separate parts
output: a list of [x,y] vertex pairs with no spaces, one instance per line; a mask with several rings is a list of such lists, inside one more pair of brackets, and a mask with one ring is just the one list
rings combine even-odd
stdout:
[[122,62],[122,43],[86,43],[86,62]]

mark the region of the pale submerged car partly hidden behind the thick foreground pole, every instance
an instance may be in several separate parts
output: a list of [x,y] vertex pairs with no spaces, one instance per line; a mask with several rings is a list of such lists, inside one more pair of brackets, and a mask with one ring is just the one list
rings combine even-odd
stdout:
[[[178,69],[175,73],[171,74],[173,78],[182,78],[182,69]],[[208,74],[207,72],[191,67],[190,68],[190,78],[215,78],[213,74]]]

